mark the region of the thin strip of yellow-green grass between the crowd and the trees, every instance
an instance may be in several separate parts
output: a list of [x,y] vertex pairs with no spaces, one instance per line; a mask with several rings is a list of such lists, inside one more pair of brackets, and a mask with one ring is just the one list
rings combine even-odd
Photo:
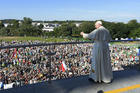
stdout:
[[[1,41],[45,41],[45,42],[69,42],[72,40],[80,40],[80,41],[89,41],[88,39],[83,39],[83,38],[43,38],[43,37],[0,37],[0,42]],[[111,42],[111,44],[123,44],[123,45],[135,45],[139,44],[140,42],[133,41],[133,42]]]

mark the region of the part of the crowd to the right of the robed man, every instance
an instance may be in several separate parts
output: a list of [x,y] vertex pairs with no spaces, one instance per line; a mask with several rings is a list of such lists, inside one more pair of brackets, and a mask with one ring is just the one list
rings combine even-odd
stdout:
[[139,64],[139,49],[136,46],[114,44],[110,50],[113,71]]

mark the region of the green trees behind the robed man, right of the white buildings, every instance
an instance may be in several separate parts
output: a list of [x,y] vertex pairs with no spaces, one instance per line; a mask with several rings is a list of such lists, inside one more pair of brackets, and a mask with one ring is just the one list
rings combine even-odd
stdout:
[[[137,20],[130,20],[128,23],[123,22],[107,22],[103,21],[103,26],[106,27],[112,36],[115,38],[137,38],[140,37],[140,23]],[[90,33],[95,29],[95,21],[82,22],[79,27],[76,27],[72,22],[63,23],[60,27],[55,28],[54,32],[48,35],[55,36],[80,36],[80,32]]]

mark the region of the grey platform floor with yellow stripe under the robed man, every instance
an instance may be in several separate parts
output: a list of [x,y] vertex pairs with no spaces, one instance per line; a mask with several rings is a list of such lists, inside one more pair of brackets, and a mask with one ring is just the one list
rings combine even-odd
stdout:
[[[110,84],[93,83],[88,76],[54,80],[51,84],[42,82],[22,87],[0,90],[0,93],[140,93],[140,71],[129,69],[113,72],[114,80]],[[136,86],[138,86],[136,88]],[[134,87],[134,88],[131,88]],[[122,92],[120,88],[122,89]],[[99,92],[101,93],[101,92]]]

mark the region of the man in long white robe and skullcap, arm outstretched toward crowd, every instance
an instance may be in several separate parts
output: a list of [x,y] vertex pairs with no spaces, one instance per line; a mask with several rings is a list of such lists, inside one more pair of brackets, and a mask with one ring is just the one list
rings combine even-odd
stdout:
[[95,82],[110,83],[113,79],[110,50],[108,43],[111,40],[109,31],[102,26],[101,21],[95,23],[96,29],[89,34],[81,32],[83,38],[94,40],[91,70],[89,78]]

